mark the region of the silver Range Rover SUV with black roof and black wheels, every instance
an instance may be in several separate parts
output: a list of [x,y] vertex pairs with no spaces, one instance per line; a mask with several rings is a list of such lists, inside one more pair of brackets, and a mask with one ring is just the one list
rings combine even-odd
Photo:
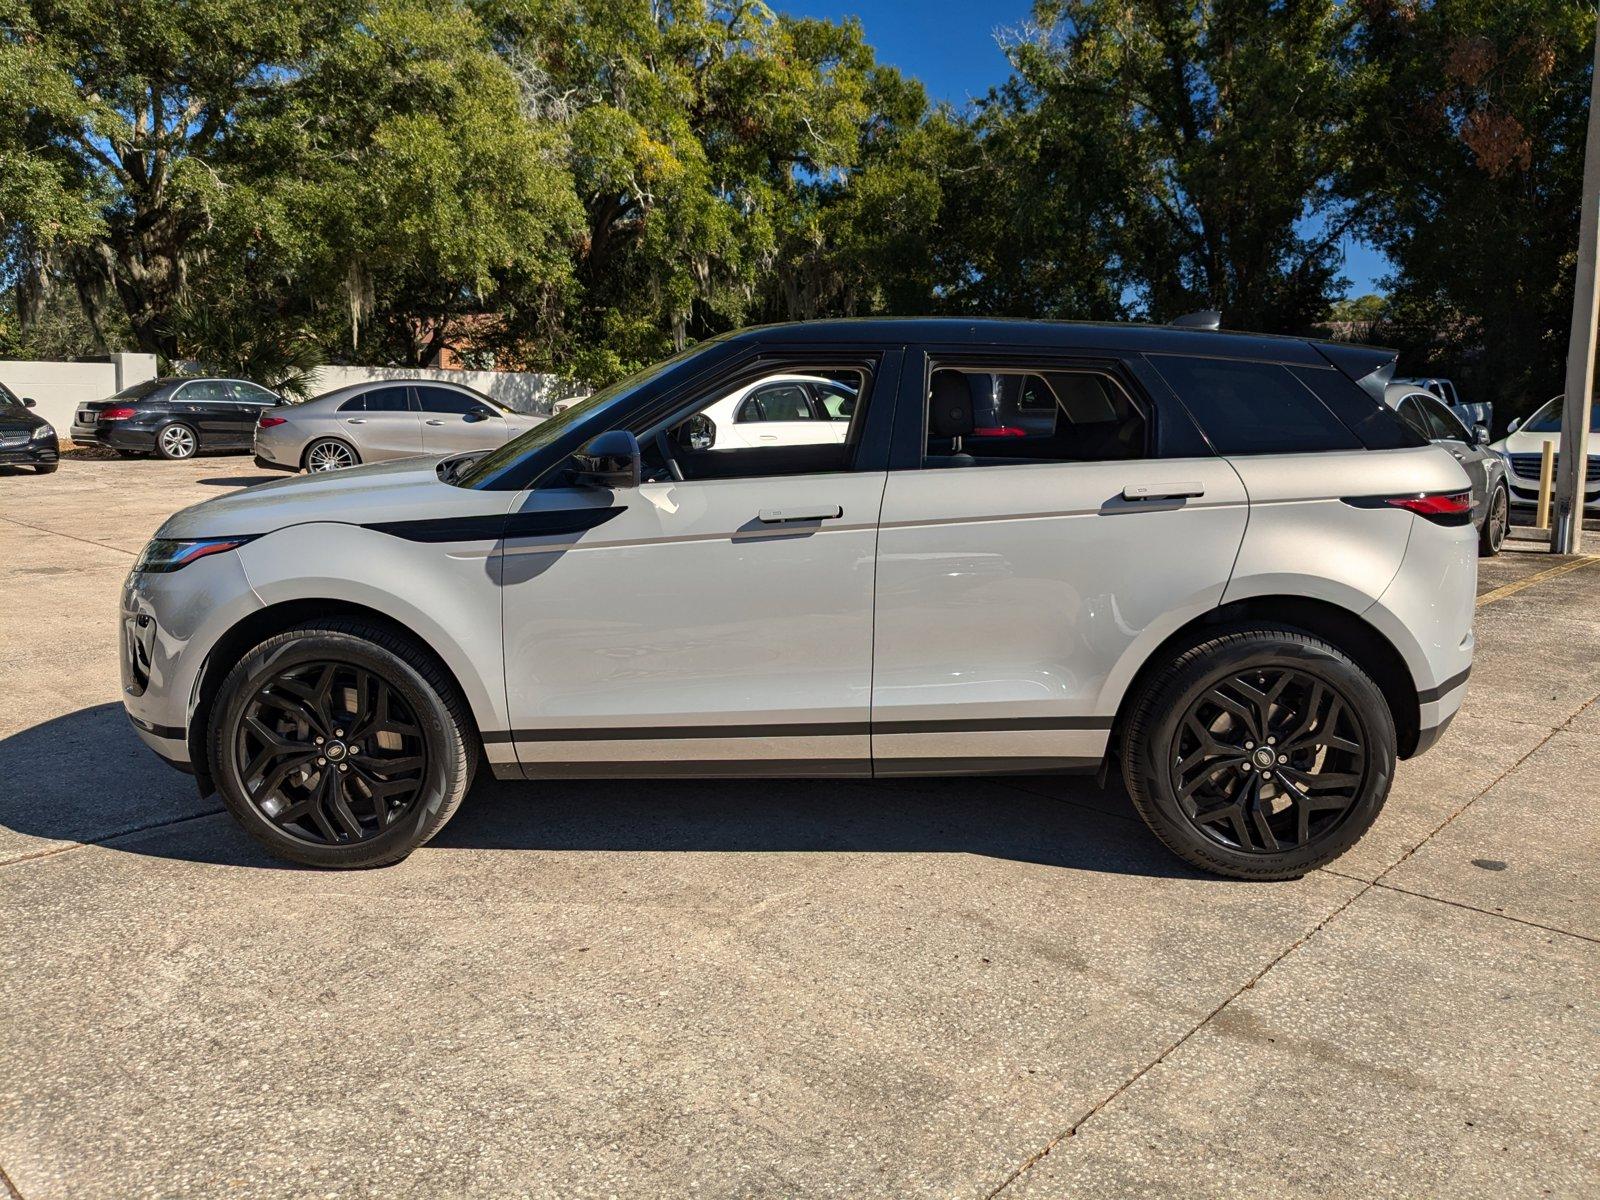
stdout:
[[[1469,483],[1390,370],[1146,326],[747,330],[499,450],[176,514],[128,578],[125,702],[317,866],[403,858],[486,765],[1115,771],[1187,861],[1299,875],[1472,661]],[[776,376],[848,390],[843,437],[720,437]]]

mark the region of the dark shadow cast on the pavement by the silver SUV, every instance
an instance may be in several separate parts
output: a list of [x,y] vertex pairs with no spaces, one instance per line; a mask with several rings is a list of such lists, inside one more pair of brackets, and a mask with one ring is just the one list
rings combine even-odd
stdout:
[[[1128,875],[1198,875],[1142,824],[1098,811],[1107,808],[1107,798],[1088,778],[507,784],[485,771],[430,845],[960,853]],[[267,856],[232,819],[187,822],[218,810],[216,795],[202,798],[189,776],[139,742],[120,704],[82,709],[0,738],[0,827],[13,834],[112,840],[130,854],[298,870]]]

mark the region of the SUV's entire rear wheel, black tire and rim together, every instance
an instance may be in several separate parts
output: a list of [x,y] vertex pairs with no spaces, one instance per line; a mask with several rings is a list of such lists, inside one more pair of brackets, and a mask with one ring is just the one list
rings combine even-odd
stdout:
[[1230,878],[1298,878],[1378,818],[1395,728],[1378,685],[1336,646],[1261,626],[1157,670],[1133,699],[1122,762],[1133,806],[1179,858]]

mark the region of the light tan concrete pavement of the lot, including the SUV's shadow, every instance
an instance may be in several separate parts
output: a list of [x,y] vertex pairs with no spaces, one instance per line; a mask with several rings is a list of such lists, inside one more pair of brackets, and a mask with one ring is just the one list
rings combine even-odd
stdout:
[[1485,563],[1462,717],[1294,883],[1083,779],[485,782],[323,874],[117,706],[133,554],[258,478],[0,474],[0,1192],[1600,1194],[1600,563]]

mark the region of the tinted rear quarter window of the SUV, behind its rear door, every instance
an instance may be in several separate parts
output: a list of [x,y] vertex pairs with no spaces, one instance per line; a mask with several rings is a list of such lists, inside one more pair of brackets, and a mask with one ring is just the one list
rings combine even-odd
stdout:
[[1150,355],[1219,454],[1363,450],[1362,440],[1278,363]]

